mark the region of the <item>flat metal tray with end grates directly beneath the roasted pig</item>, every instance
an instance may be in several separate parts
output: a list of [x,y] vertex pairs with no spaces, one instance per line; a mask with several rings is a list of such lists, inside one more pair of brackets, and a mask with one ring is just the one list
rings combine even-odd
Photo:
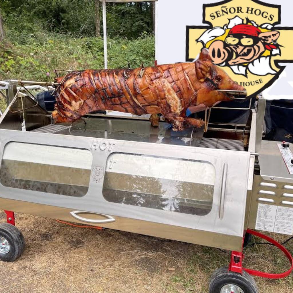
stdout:
[[166,122],[160,122],[159,127],[155,128],[151,127],[148,120],[95,117],[86,119],[86,123],[78,121],[71,127],[69,125],[50,124],[32,132],[244,151],[243,141],[241,140],[203,137],[202,128],[194,131],[192,128],[184,131],[173,131]]

